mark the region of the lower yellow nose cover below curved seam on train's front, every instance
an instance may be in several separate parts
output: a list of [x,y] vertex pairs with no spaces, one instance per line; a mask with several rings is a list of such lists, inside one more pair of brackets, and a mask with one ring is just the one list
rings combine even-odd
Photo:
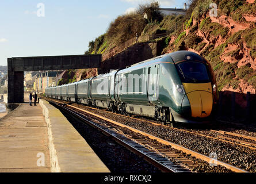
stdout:
[[193,91],[187,94],[192,117],[208,117],[212,112],[212,94],[206,91]]

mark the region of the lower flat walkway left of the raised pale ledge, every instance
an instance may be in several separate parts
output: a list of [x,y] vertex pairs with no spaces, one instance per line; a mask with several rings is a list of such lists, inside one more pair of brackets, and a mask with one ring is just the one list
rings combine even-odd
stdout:
[[40,105],[21,104],[0,119],[0,172],[51,172],[47,124]]

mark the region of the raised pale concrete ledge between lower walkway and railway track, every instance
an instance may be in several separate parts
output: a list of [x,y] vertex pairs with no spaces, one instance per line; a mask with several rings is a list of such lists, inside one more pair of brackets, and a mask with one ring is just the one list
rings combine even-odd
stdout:
[[60,110],[44,99],[39,104],[48,126],[52,172],[110,172]]

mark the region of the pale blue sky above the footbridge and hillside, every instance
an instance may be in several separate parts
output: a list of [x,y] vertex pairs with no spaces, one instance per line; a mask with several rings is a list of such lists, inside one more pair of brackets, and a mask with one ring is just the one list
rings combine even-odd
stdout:
[[[8,57],[82,55],[117,16],[152,0],[1,0],[0,66]],[[183,8],[185,0],[158,0]]]

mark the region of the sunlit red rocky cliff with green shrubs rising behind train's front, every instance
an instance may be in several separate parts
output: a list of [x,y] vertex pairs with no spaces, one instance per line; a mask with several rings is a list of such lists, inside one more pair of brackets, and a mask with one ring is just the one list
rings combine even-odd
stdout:
[[255,94],[256,2],[244,1],[230,14],[219,7],[218,12],[217,17],[210,17],[209,12],[192,16],[192,25],[184,26],[186,34],[171,36],[163,53],[196,52],[211,62],[219,90]]

